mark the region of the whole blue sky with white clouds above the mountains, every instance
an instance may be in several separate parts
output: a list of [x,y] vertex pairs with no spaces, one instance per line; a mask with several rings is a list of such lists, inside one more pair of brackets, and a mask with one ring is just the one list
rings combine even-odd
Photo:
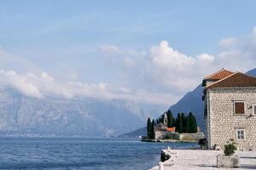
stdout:
[[172,105],[256,64],[256,1],[0,2],[0,84],[36,98]]

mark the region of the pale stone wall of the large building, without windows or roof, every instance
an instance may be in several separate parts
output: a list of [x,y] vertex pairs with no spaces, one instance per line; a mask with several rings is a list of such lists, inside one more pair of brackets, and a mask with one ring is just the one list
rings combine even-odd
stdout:
[[[239,150],[252,150],[256,145],[256,88],[212,88],[207,90],[208,147],[215,144],[222,149],[229,139],[235,139]],[[244,101],[246,113],[234,113],[234,101]],[[252,116],[253,114],[253,116]],[[236,129],[245,129],[245,139],[236,139]]]

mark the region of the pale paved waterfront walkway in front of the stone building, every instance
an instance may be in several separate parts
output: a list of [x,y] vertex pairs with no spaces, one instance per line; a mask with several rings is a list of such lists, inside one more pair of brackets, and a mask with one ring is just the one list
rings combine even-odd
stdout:
[[[167,151],[167,150],[165,150]],[[218,150],[171,150],[174,155],[164,162],[164,170],[220,170],[220,169],[255,169],[256,151],[236,151],[235,155],[241,158],[241,168],[218,168],[216,167],[217,155],[223,154]],[[177,153],[177,155],[175,155]],[[159,167],[152,167],[150,170],[158,170]]]

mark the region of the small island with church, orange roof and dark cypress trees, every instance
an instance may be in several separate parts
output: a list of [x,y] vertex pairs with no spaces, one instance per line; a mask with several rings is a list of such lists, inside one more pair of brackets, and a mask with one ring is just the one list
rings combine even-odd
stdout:
[[195,116],[192,112],[188,115],[178,113],[177,117],[168,110],[162,114],[156,122],[148,117],[147,136],[143,136],[143,142],[198,142],[204,138]]

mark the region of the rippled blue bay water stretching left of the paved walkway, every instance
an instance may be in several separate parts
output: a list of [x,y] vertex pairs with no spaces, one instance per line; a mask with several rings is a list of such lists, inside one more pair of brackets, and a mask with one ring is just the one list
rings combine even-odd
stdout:
[[1,138],[0,169],[148,169],[160,150],[196,144],[142,143],[139,139]]

